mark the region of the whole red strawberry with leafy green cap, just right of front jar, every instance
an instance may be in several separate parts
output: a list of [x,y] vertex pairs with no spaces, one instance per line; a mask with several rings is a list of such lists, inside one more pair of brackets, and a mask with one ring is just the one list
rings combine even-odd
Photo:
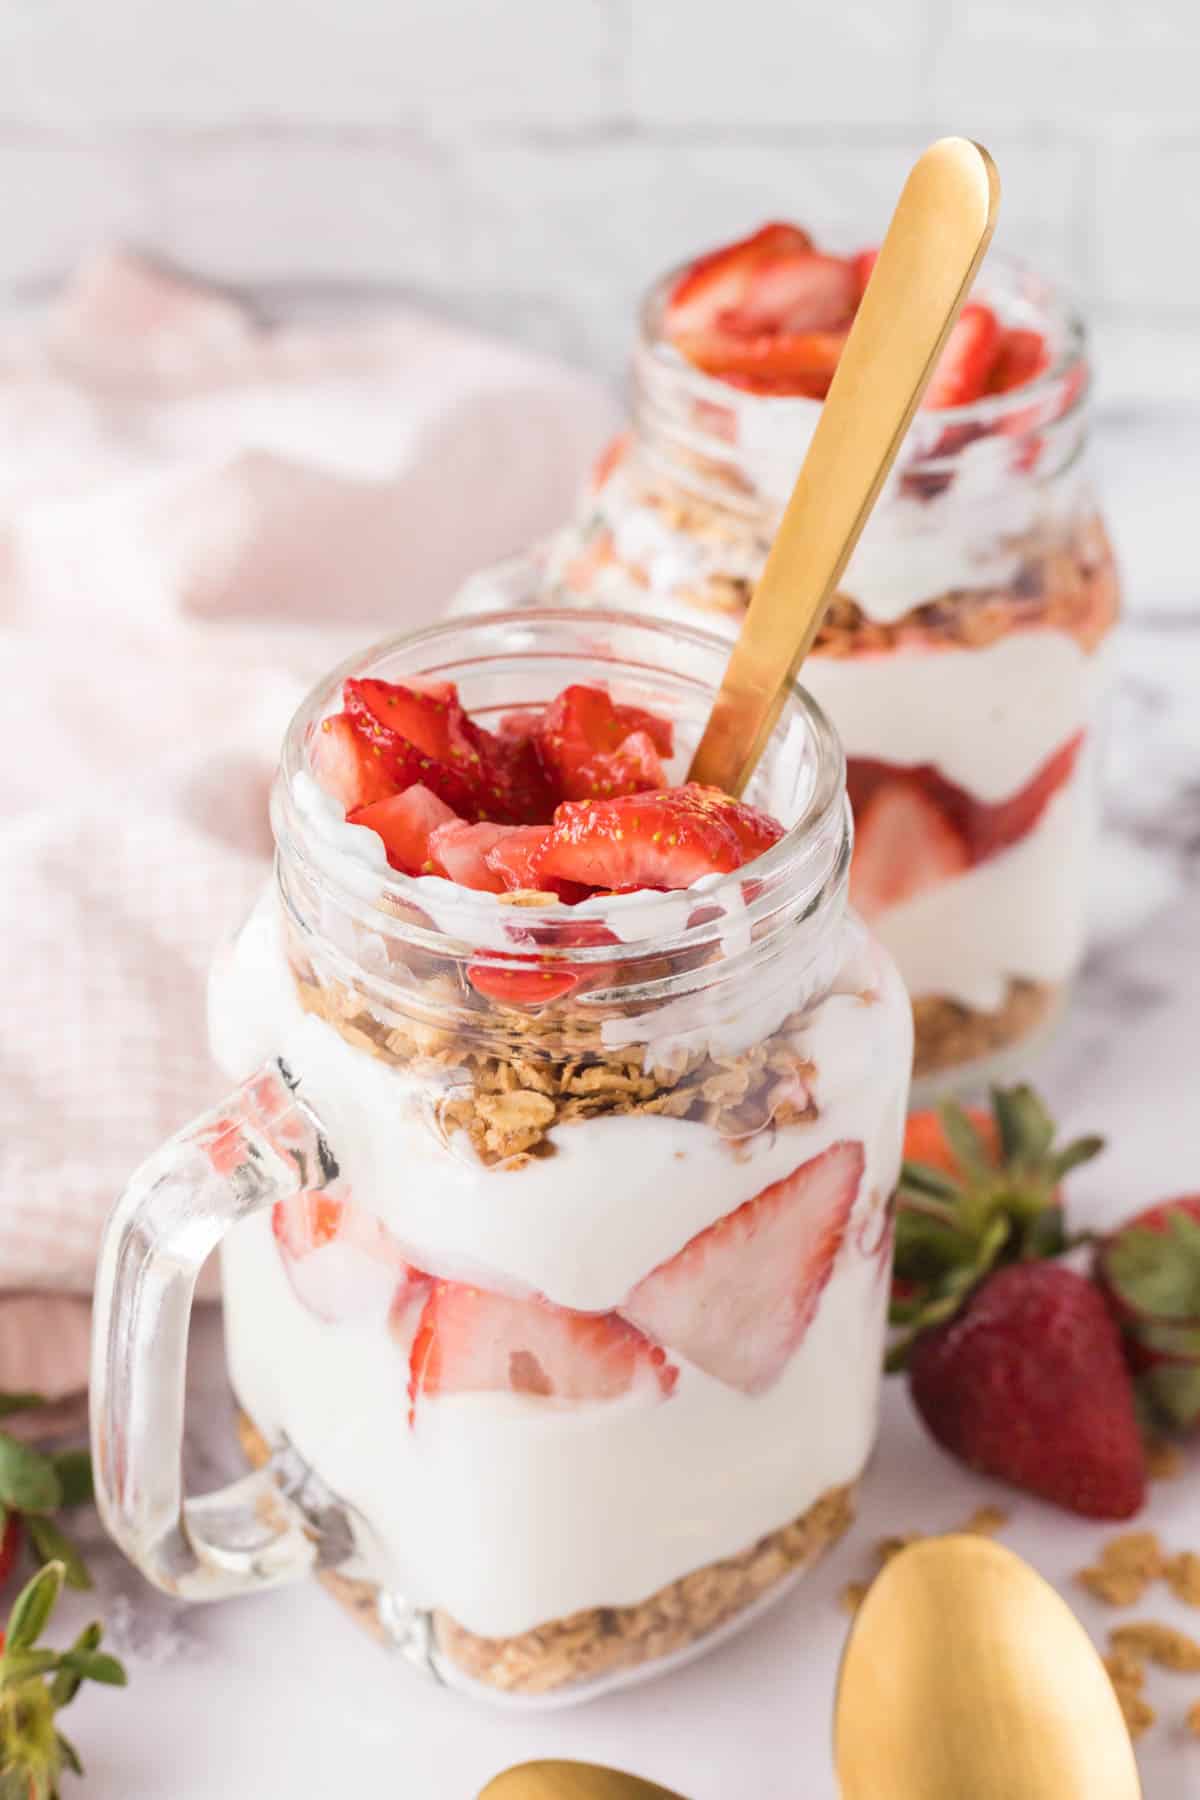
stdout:
[[1119,1332],[1099,1291],[1049,1258],[1070,1247],[1061,1179],[1099,1138],[1056,1148],[1029,1087],[991,1111],[946,1103],[905,1134],[889,1368],[909,1368],[932,1435],[964,1462],[1090,1517],[1144,1498]]

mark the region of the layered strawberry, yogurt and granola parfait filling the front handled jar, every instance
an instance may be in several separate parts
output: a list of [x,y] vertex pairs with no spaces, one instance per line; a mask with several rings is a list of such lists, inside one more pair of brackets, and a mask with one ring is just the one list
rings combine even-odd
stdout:
[[736,803],[680,779],[721,644],[579,626],[327,689],[210,990],[331,1150],[227,1240],[239,1402],[389,1629],[509,1696],[689,1652],[849,1523],[910,1062],[819,711]]

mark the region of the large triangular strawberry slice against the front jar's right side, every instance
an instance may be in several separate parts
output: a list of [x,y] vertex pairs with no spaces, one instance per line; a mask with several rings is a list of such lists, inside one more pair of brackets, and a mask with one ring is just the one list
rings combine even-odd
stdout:
[[835,1143],[639,1282],[622,1314],[707,1375],[761,1393],[813,1321],[862,1181]]

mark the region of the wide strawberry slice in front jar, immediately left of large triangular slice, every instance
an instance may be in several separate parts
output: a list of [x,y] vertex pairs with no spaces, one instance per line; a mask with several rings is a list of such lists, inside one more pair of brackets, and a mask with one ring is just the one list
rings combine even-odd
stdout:
[[408,1368],[414,1411],[446,1393],[592,1402],[640,1388],[664,1399],[678,1379],[666,1354],[615,1312],[569,1312],[459,1282],[434,1285]]

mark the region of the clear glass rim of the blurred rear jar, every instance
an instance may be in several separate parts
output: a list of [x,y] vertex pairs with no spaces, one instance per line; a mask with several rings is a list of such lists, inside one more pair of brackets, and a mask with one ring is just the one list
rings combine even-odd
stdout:
[[[705,374],[702,369],[696,369],[694,364],[689,364],[675,349],[662,331],[662,315],[671,288],[693,261],[694,257],[676,263],[642,293],[637,308],[639,340],[635,365],[653,371],[658,378],[678,382],[694,401],[709,401],[727,410],[745,407],[757,412],[757,409],[763,409],[759,416],[774,414],[775,418],[786,418],[788,409],[795,409],[797,419],[811,419],[822,405],[820,400],[811,400],[806,394],[756,394],[734,387],[718,374]],[[1033,308],[1038,310],[1042,324],[1051,328],[1054,340],[1054,353],[1049,365],[1031,382],[1024,382],[1004,394],[984,394],[961,407],[937,407],[936,412],[918,412],[910,428],[910,445],[916,436],[919,446],[921,423],[927,419],[932,421],[928,428],[936,436],[941,436],[946,427],[991,427],[1025,412],[1031,416],[1031,427],[1042,428],[1047,412],[1060,421],[1083,403],[1087,380],[1079,380],[1079,373],[1087,374],[1088,331],[1083,315],[1063,288],[1022,257],[1006,252],[990,252],[975,281],[972,297],[986,301],[990,293],[997,301],[1018,301],[1031,311]],[[1069,385],[1074,391],[1070,392],[1069,405],[1063,407],[1061,394]],[[1060,401],[1058,405],[1054,403],[1056,400]],[[916,454],[923,455],[919,448]]]

